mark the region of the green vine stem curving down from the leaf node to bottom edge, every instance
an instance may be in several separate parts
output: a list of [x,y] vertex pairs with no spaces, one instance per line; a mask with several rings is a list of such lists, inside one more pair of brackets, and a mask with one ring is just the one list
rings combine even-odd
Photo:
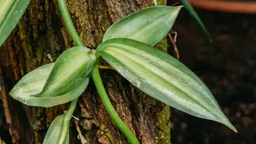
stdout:
[[113,105],[111,104],[111,101],[109,100],[107,93],[105,91],[105,88],[103,86],[103,83],[101,81],[97,64],[94,65],[92,70],[92,79],[95,83],[95,86],[97,88],[98,94],[100,96],[101,101],[103,102],[106,111],[108,112],[109,116],[112,118],[116,126],[122,131],[122,133],[127,137],[129,142],[131,144],[139,143],[137,138],[133,135],[133,133],[130,131],[130,129],[123,123],[122,119],[118,116],[116,113]]

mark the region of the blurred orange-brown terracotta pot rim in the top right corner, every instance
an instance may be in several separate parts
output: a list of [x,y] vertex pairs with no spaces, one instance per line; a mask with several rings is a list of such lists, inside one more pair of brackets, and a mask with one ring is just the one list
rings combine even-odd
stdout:
[[209,10],[256,13],[256,0],[188,0],[193,7]]

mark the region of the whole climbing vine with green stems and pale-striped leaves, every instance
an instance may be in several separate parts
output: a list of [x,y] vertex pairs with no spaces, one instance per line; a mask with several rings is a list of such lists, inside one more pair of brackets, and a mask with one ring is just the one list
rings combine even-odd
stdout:
[[[29,0],[23,3],[19,0],[0,1],[0,32],[5,33],[0,35],[0,44],[28,3]],[[55,62],[24,75],[9,92],[14,99],[31,106],[50,107],[71,101],[69,109],[52,121],[43,143],[69,142],[69,121],[89,78],[93,79],[116,126],[130,143],[139,143],[135,133],[112,106],[98,68],[114,69],[134,86],[165,104],[197,117],[218,121],[236,131],[205,84],[177,59],[153,47],[170,31],[182,6],[151,6],[132,13],[113,23],[104,33],[102,43],[96,49],[89,49],[72,24],[65,0],[58,0],[58,4],[75,47],[65,50]],[[102,59],[109,65],[101,65]],[[160,119],[166,118],[167,107]],[[161,121],[159,124],[164,127]]]

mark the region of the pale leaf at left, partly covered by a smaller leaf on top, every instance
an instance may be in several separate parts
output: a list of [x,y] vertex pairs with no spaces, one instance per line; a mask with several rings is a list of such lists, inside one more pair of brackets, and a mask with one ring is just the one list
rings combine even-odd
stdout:
[[84,78],[77,87],[63,95],[53,97],[32,96],[42,90],[53,65],[54,63],[43,65],[24,75],[11,89],[10,96],[24,104],[43,107],[66,103],[77,98],[87,87],[88,78]]

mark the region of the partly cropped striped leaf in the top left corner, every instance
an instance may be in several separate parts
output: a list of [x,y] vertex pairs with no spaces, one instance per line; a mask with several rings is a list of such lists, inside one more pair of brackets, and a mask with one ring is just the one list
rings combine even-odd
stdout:
[[30,0],[0,0],[0,46],[18,23]]

